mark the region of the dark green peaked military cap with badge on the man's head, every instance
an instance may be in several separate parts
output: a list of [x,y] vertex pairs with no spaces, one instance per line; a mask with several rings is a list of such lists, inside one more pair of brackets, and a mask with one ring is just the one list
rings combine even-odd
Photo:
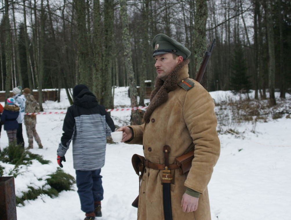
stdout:
[[154,37],[152,48],[154,49],[152,57],[164,53],[175,53],[178,56],[182,56],[183,59],[187,59],[191,55],[187,47],[165,34],[158,34]]

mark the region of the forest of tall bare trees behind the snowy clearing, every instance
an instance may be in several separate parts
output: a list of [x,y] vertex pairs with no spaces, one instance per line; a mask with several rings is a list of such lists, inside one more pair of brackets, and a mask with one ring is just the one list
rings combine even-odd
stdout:
[[[113,108],[114,86],[129,86],[144,106],[145,80],[156,78],[152,39],[164,33],[190,51],[195,78],[216,46],[202,85],[208,91],[255,90],[276,105],[291,85],[290,0],[1,0],[1,89],[70,88],[83,83]],[[137,102],[136,85],[140,86]],[[113,89],[112,89],[113,88]],[[58,100],[60,92],[58,92]],[[134,118],[134,116],[132,116]],[[137,116],[136,116],[137,117]],[[133,120],[134,121],[134,120]]]

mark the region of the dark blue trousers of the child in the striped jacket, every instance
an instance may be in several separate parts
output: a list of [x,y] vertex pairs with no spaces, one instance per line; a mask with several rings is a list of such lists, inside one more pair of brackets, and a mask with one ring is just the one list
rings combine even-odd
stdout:
[[81,202],[81,210],[94,212],[94,201],[103,200],[101,169],[92,171],[76,170],[77,192]]

